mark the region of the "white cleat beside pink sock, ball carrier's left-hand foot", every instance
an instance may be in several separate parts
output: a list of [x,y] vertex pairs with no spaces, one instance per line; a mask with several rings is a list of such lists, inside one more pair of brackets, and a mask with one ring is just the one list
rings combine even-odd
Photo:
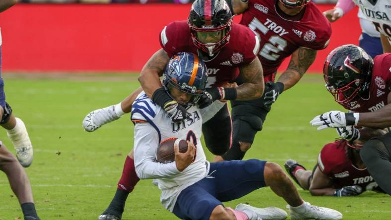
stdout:
[[283,220],[288,217],[284,210],[277,207],[256,208],[240,203],[235,210],[246,213],[249,220]]

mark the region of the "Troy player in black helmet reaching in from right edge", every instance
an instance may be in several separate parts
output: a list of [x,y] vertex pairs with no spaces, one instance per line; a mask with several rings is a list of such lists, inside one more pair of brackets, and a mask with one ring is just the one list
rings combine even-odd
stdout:
[[[355,45],[340,46],[327,56],[324,77],[327,90],[337,103],[354,112],[328,111],[311,120],[318,130],[359,125],[372,128],[391,126],[391,54],[372,59]],[[341,133],[342,135],[346,135]],[[361,135],[352,128],[349,136]],[[360,156],[379,186],[391,194],[391,133],[372,138]]]

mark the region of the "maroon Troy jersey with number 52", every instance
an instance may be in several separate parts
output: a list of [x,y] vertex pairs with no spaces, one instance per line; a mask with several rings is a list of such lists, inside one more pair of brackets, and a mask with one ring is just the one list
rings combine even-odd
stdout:
[[[281,62],[299,47],[322,50],[331,36],[331,25],[313,2],[305,7],[300,20],[283,18],[276,9],[277,0],[249,0],[241,24],[249,26],[260,38],[258,57],[265,81],[274,80]],[[271,77],[271,76],[272,77]],[[272,79],[271,79],[272,78]]]

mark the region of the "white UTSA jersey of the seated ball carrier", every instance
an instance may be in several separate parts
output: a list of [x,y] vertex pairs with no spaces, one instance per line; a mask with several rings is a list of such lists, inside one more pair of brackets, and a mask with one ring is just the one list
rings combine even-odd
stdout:
[[[218,103],[218,106],[224,104]],[[202,116],[213,115],[221,108],[190,107],[192,116],[182,123],[174,123],[161,107],[141,92],[132,105],[131,119],[134,127],[134,166],[140,179],[154,179],[153,183],[162,190],[160,201],[169,211],[173,211],[179,193],[186,187],[204,178],[209,171],[209,162],[201,144]],[[196,156],[193,164],[179,172],[175,162],[161,164],[155,162],[155,152],[159,143],[170,137],[193,141]]]

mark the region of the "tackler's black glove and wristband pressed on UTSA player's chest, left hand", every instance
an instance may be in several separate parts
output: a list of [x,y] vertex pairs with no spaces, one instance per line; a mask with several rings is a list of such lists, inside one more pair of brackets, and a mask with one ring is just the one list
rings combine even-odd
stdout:
[[167,111],[169,117],[175,123],[182,122],[192,116],[185,107],[172,100],[163,88],[159,88],[153,93],[152,101]]

